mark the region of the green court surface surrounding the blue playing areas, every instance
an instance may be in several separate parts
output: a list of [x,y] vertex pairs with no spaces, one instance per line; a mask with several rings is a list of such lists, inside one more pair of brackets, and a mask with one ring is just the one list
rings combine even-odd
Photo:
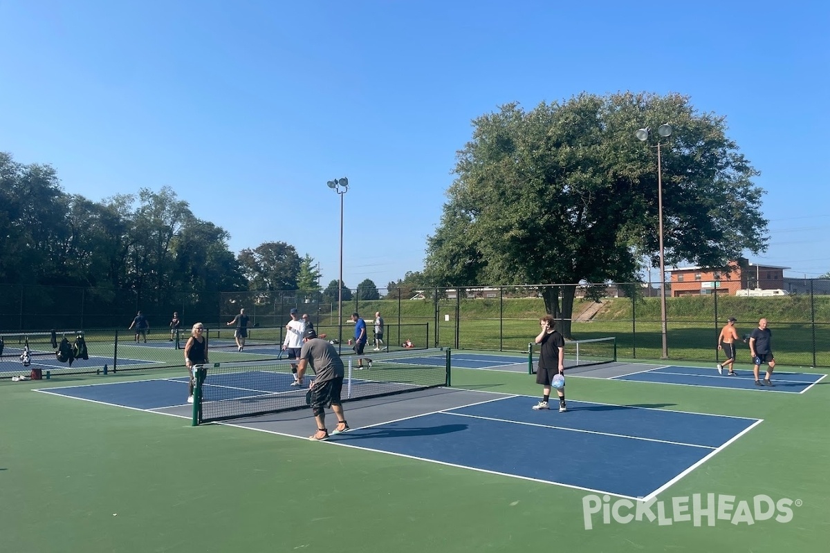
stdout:
[[[672,498],[697,493],[735,496],[736,504],[749,502],[750,509],[761,494],[798,505],[788,522],[717,520],[710,527],[706,519],[703,526],[612,519],[604,524],[594,515],[588,530],[583,497],[589,492],[579,489],[249,429],[191,427],[172,416],[32,391],[158,376],[181,376],[181,371],[0,381],[0,550],[827,549],[830,386],[825,381],[804,394],[755,394],[572,379],[570,400],[764,420],[662,492],[658,499],[667,508]],[[457,369],[452,384],[536,397],[540,386],[534,378]],[[346,404],[347,418],[348,409]],[[308,419],[311,434],[310,412],[297,414]],[[487,455],[486,443],[480,454]]]

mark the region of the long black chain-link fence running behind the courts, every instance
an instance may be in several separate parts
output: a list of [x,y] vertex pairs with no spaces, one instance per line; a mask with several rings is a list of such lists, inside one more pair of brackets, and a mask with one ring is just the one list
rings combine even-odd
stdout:
[[[784,289],[730,293],[717,282],[700,293],[673,296],[666,284],[666,344],[662,349],[660,284],[560,284],[354,290],[338,319],[337,298],[320,290],[180,293],[0,285],[0,332],[129,327],[143,311],[151,332],[169,332],[173,312],[182,328],[193,323],[227,328],[244,308],[252,327],[284,327],[291,308],[307,313],[318,332],[345,342],[357,312],[372,338],[374,314],[387,325],[388,344],[524,352],[548,310],[569,339],[617,337],[618,356],[632,360],[715,363],[726,319],[738,319],[741,336],[769,320],[776,361],[789,366],[830,366],[830,279],[784,279]],[[545,300],[548,305],[546,306]],[[569,316],[563,306],[573,304]],[[567,310],[565,310],[567,313]],[[739,349],[738,361],[749,362]]]

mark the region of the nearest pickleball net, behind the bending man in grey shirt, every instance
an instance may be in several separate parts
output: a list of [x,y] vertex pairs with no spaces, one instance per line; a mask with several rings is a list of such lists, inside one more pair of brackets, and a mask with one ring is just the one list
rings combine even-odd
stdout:
[[[357,357],[341,357],[345,366],[342,399],[364,400],[447,386],[450,355],[443,348],[377,353],[363,356],[363,369]],[[302,409],[307,406],[305,392],[313,379],[314,371],[309,368],[305,385],[291,386],[291,361],[208,364],[194,393],[193,424]]]

